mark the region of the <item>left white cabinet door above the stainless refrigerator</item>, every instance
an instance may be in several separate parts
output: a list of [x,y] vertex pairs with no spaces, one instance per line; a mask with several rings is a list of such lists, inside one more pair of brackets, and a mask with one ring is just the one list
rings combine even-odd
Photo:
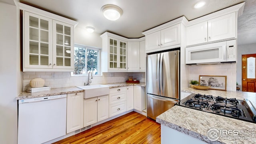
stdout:
[[160,48],[160,31],[146,35],[146,51]]

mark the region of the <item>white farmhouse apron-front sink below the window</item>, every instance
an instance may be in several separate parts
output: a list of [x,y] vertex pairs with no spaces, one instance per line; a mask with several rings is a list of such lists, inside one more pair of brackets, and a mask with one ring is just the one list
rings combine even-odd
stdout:
[[109,86],[102,84],[93,84],[90,86],[76,86],[84,90],[84,98],[93,98],[109,94]]

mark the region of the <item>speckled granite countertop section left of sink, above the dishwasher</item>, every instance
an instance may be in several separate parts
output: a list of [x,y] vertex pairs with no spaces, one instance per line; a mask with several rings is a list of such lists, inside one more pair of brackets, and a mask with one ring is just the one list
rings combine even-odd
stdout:
[[39,98],[43,96],[54,96],[54,95],[60,95],[60,94],[70,94],[70,93],[76,93],[76,92],[84,92],[84,90],[77,88],[77,87],[66,87],[66,88],[52,88],[48,91],[43,92],[21,92],[19,96],[16,97],[16,100],[22,100],[27,98]]

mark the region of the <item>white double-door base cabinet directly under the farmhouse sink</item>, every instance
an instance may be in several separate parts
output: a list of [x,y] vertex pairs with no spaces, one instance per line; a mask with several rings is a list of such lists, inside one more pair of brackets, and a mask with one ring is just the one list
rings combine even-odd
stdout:
[[108,95],[84,99],[84,127],[108,118]]

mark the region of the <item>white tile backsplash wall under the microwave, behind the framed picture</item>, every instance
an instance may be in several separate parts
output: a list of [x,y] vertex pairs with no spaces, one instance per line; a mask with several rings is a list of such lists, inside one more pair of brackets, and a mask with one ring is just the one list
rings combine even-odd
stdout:
[[236,91],[236,64],[190,66],[190,80],[199,80],[199,75],[227,76],[227,90]]

